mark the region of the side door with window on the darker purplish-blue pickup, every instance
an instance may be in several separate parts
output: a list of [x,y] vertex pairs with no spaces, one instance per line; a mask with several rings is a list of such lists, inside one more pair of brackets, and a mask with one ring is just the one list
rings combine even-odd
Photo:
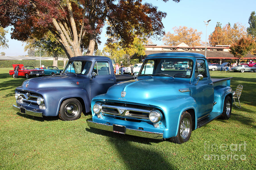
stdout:
[[116,84],[112,70],[112,65],[109,61],[95,62],[92,72],[96,73],[96,76],[90,80],[91,99],[96,95],[106,93],[110,86]]

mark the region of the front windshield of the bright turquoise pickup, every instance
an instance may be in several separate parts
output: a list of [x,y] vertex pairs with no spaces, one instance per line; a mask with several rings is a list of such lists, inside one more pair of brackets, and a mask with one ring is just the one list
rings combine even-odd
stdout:
[[139,76],[173,76],[190,78],[193,70],[193,61],[190,59],[154,59],[145,61]]

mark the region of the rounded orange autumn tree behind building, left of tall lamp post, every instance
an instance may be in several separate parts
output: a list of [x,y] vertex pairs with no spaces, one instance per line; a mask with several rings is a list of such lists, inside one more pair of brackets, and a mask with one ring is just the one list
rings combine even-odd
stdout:
[[163,37],[164,45],[176,46],[184,42],[189,46],[201,45],[202,32],[186,26],[173,27],[174,33],[168,31]]

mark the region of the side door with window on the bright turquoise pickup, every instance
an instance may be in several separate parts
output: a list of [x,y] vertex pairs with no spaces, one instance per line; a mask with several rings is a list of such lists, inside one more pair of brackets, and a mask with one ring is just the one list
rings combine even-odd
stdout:
[[206,61],[203,59],[197,59],[197,63],[195,65],[195,78],[197,78],[197,75],[200,74],[204,77],[203,80],[200,80],[196,85],[198,118],[208,114],[213,108],[213,83],[210,79],[210,75],[208,75],[207,69],[208,67],[206,66]]

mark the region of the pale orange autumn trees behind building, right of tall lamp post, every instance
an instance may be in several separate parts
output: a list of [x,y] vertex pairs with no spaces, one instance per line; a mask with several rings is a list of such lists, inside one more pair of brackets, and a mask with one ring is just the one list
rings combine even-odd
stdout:
[[238,42],[242,37],[246,36],[247,32],[244,25],[235,23],[231,27],[230,23],[221,27],[220,22],[217,22],[214,31],[209,35],[210,46],[215,45],[230,45]]

